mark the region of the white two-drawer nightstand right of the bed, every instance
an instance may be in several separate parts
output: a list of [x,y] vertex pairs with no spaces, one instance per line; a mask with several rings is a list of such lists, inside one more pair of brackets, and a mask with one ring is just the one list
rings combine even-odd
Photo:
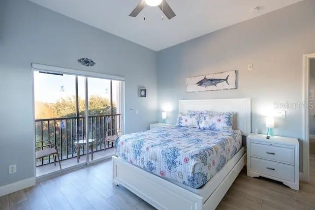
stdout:
[[247,176],[281,181],[299,190],[299,141],[250,134],[247,137]]

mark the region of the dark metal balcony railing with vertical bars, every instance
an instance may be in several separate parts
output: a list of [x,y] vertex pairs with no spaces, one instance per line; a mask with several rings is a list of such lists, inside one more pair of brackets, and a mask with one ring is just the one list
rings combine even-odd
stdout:
[[[43,140],[50,140],[58,148],[61,160],[77,156],[74,142],[86,139],[85,117],[69,117],[35,120],[36,147],[47,144]],[[94,151],[113,147],[105,145],[104,139],[108,129],[120,128],[121,114],[97,115],[88,118],[89,139],[95,139]],[[114,133],[112,134],[114,135]],[[41,150],[40,148],[37,150]],[[86,153],[85,146],[81,147],[80,154]],[[36,161],[36,166],[52,163],[51,157],[44,157]]]

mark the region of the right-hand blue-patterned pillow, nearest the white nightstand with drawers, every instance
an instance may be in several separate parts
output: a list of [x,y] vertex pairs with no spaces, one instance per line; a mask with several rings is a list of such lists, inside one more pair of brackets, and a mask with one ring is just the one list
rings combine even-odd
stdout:
[[232,130],[233,112],[208,112],[200,114],[200,129]]

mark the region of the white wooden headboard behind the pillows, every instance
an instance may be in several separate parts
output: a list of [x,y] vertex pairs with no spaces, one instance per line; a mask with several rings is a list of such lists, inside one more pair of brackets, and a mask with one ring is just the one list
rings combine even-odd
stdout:
[[251,99],[206,99],[206,100],[180,100],[179,112],[186,114],[193,111],[233,112],[233,129],[241,130],[242,135],[251,133]]

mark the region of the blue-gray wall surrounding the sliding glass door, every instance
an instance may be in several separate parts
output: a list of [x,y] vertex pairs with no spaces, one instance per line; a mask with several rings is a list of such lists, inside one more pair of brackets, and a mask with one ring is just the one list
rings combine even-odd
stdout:
[[[82,57],[96,65],[80,65]],[[28,0],[0,0],[0,186],[34,176],[32,62],[124,76],[126,110],[139,110],[126,111],[126,132],[157,120],[156,52]],[[139,86],[147,98],[138,98]]]

